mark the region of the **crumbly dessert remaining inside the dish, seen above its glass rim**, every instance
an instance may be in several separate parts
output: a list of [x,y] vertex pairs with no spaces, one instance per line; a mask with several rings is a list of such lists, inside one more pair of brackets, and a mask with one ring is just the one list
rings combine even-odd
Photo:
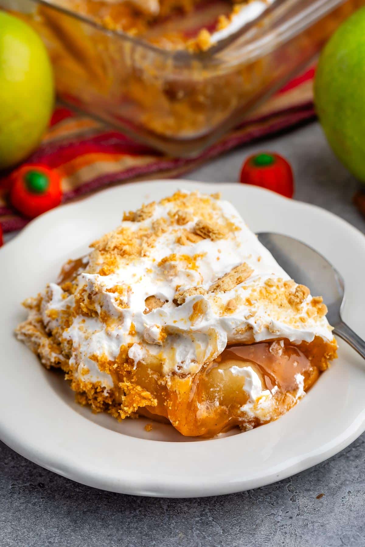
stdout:
[[55,0],[55,4],[106,28],[143,36],[163,49],[188,46],[193,50],[208,49],[211,33],[221,33],[233,20],[238,30],[256,19],[271,2],[254,0],[254,5],[245,9],[248,2],[239,0]]

